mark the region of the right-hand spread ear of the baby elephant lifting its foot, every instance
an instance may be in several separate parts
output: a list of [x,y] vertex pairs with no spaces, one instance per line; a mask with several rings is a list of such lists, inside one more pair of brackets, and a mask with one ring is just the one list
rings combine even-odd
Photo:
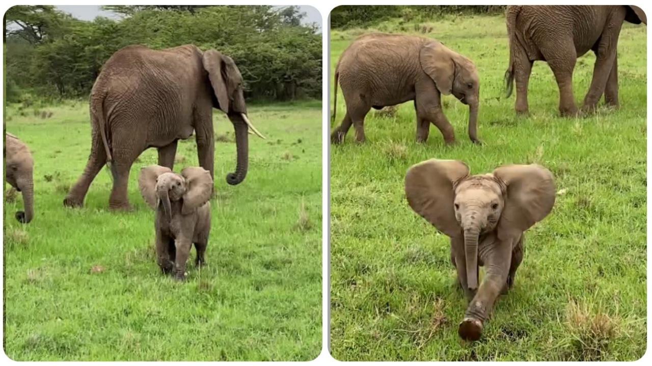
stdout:
[[555,179],[537,164],[503,165],[494,177],[505,183],[506,198],[496,227],[500,240],[518,238],[535,223],[546,218],[555,204]]

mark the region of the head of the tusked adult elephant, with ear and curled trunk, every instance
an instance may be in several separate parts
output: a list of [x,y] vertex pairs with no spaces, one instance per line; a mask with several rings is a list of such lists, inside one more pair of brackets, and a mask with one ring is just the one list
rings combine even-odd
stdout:
[[256,130],[247,117],[243,76],[233,59],[215,49],[209,49],[203,53],[201,61],[213,89],[213,107],[226,113],[235,129],[237,167],[235,173],[229,173],[226,176],[226,182],[234,186],[244,180],[248,169],[248,129],[250,128],[258,137],[263,139],[265,137]]

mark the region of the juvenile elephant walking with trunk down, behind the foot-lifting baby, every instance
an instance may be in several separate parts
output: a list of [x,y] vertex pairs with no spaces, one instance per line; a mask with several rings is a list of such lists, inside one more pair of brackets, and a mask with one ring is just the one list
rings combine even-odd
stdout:
[[331,134],[341,143],[351,124],[355,138],[364,142],[364,117],[374,109],[413,100],[417,112],[417,142],[425,142],[430,123],[439,128],[447,144],[455,142],[454,130],[441,109],[441,94],[453,94],[469,106],[469,138],[477,137],[480,81],[475,65],[432,38],[371,33],[353,41],[337,63],[334,77],[334,111],[337,85],[342,86],[346,115]]

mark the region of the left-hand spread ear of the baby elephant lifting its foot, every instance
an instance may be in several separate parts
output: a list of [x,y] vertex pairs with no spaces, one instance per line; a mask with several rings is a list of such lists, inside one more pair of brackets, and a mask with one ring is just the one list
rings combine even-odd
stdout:
[[459,160],[430,159],[412,165],[405,180],[408,204],[439,231],[458,236],[462,228],[453,209],[454,187],[467,176],[469,166]]

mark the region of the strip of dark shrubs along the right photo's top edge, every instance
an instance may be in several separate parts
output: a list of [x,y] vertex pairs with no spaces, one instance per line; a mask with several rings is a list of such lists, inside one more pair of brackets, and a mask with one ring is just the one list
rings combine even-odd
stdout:
[[367,27],[391,18],[428,19],[442,14],[495,14],[506,5],[341,5],[331,11],[331,29]]

